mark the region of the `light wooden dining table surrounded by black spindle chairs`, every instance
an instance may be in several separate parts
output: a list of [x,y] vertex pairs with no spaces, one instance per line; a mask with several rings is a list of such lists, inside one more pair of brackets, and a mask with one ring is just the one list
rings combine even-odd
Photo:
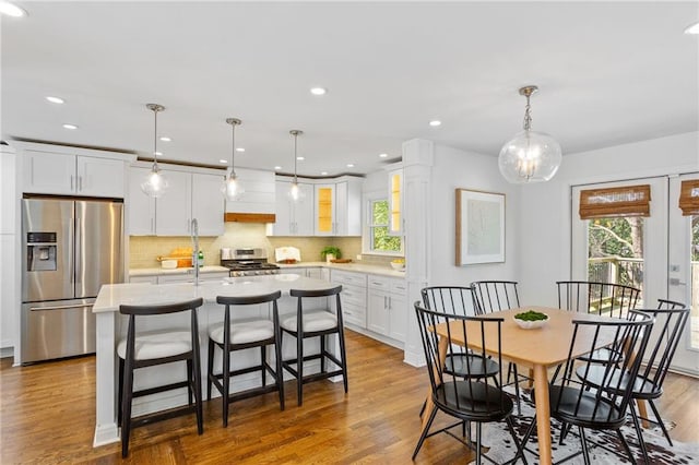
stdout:
[[[548,320],[536,329],[522,329],[513,317],[517,313],[534,310],[546,313]],[[572,312],[558,308],[548,307],[522,307],[509,310],[497,311],[484,315],[484,318],[502,318],[500,337],[500,354],[503,360],[511,361],[530,369],[534,379],[534,403],[536,405],[536,433],[538,438],[540,461],[543,465],[552,463],[552,434],[550,434],[550,409],[548,402],[548,370],[558,367],[568,360],[570,343],[572,341],[573,320],[602,320],[608,321],[609,317],[600,317],[593,313]],[[439,335],[439,356],[443,360],[447,355],[449,343],[465,345],[463,326],[460,321],[453,321],[451,327],[447,329],[447,323],[439,323],[431,327]],[[497,331],[497,329],[493,329]],[[466,333],[479,333],[481,325],[477,321],[466,322]],[[449,338],[451,336],[451,338]],[[578,330],[576,346],[570,355],[573,358],[580,357],[590,350],[594,329],[582,325]],[[614,342],[613,331],[602,332],[597,337],[600,347]],[[482,347],[481,337],[470,337],[469,347],[472,349],[485,349],[487,354],[497,355],[497,334],[485,337],[486,347]],[[423,412],[422,428],[427,428],[427,419],[435,408],[431,402],[431,394],[427,396],[425,410]]]

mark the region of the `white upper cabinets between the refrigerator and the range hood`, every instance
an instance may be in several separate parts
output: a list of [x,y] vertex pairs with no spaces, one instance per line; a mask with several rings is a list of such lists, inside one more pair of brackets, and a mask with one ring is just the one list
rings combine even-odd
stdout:
[[191,220],[197,218],[200,236],[224,233],[224,200],[218,175],[164,169],[167,191],[157,199],[143,193],[141,183],[150,167],[129,169],[129,235],[190,236]]

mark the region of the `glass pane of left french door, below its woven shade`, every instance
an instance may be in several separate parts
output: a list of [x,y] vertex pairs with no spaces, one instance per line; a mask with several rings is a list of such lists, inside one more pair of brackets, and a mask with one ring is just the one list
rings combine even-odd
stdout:
[[641,290],[637,307],[643,308],[642,217],[588,222],[588,281],[636,287]]

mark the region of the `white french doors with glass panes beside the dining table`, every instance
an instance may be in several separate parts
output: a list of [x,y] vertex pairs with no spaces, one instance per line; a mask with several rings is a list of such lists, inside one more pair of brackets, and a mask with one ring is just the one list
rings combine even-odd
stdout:
[[[699,374],[699,217],[682,216],[677,204],[682,180],[698,177],[574,186],[571,192],[571,278],[638,287],[638,308],[656,308],[657,299],[694,302],[673,359],[674,369],[692,374]],[[582,191],[639,184],[650,186],[650,216],[580,219]]]

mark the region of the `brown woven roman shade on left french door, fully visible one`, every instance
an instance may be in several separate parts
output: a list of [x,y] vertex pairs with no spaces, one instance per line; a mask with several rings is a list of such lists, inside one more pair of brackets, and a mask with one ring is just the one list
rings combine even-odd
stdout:
[[580,192],[580,219],[650,215],[650,184],[588,189]]

